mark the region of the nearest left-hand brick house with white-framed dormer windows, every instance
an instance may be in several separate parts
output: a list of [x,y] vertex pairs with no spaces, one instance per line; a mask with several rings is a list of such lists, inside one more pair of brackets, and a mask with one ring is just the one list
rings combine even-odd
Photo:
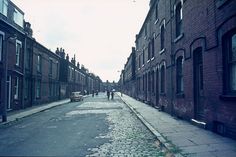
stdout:
[[24,107],[24,13],[11,1],[2,0],[0,5],[0,109],[9,111]]

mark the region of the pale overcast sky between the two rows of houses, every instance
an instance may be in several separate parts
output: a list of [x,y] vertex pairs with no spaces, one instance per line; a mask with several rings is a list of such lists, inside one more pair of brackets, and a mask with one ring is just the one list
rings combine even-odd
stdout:
[[149,0],[12,0],[31,23],[33,37],[103,81],[118,81],[135,46],[149,9]]

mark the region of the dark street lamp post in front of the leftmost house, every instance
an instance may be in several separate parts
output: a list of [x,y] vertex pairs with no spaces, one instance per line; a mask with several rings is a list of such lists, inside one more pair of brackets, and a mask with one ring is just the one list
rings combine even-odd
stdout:
[[5,39],[6,51],[4,55],[4,99],[3,99],[3,110],[2,110],[2,122],[7,121],[7,71],[8,71],[8,40],[15,40],[17,38],[16,34],[14,36],[9,36]]

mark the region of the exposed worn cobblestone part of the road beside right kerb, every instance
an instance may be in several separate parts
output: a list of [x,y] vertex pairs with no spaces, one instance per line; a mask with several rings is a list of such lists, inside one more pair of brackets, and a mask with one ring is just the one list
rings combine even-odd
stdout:
[[[118,98],[107,101],[104,95],[97,101],[78,106],[77,114],[106,112],[109,132],[97,139],[109,139],[96,148],[90,148],[91,156],[166,156],[153,134],[137,119],[131,110]],[[103,101],[102,101],[103,100]],[[83,110],[84,109],[84,110]],[[87,110],[86,110],[87,109]],[[74,113],[75,114],[75,113]]]

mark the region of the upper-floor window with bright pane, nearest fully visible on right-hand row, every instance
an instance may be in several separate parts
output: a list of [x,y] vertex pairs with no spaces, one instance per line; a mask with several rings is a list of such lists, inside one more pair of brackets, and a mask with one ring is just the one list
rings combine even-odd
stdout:
[[179,2],[176,5],[176,10],[175,10],[176,37],[179,37],[182,33],[182,19],[183,19],[182,3]]

